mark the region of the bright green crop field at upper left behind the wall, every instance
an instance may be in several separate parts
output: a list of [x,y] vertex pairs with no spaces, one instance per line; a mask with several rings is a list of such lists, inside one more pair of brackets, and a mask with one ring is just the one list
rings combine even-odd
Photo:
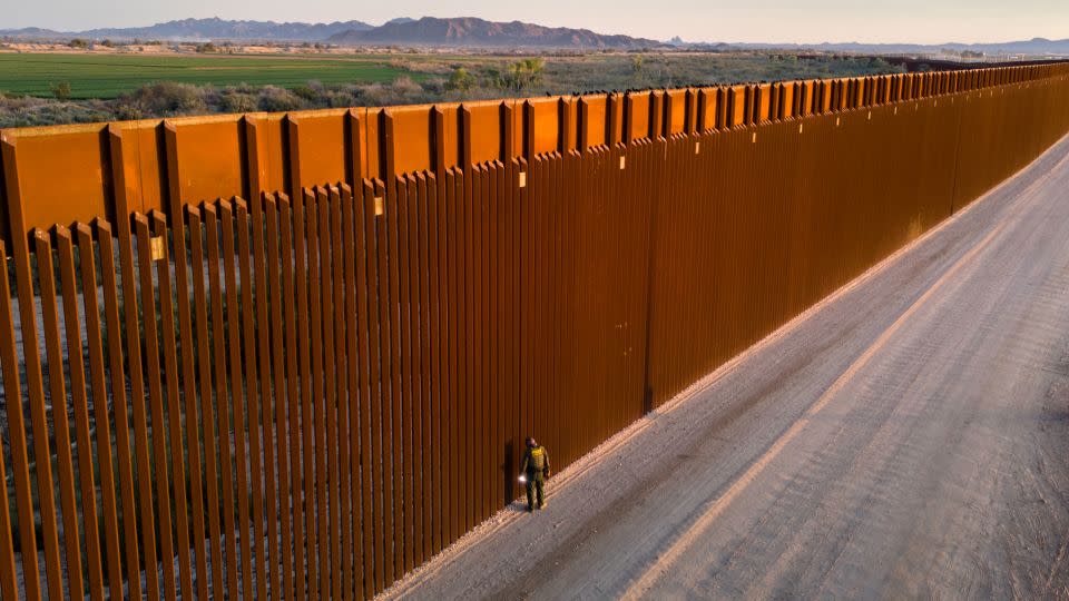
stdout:
[[311,80],[323,83],[393,81],[425,75],[391,66],[383,57],[259,57],[0,53],[0,91],[51,96],[51,87],[70,83],[71,98],[115,98],[155,81],[214,86],[274,85],[286,88]]

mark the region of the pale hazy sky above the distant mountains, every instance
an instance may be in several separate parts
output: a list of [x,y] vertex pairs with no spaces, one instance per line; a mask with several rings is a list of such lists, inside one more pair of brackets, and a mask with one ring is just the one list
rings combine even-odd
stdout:
[[479,17],[667,40],[996,42],[1069,38],[1069,0],[0,0],[0,29],[77,31],[185,18],[347,21]]

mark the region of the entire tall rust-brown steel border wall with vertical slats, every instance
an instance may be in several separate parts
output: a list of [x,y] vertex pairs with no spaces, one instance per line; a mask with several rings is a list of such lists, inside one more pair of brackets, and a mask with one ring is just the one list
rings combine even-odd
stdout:
[[[1069,130],[1042,65],[0,132],[0,593],[371,598]],[[10,259],[10,260],[9,260]]]

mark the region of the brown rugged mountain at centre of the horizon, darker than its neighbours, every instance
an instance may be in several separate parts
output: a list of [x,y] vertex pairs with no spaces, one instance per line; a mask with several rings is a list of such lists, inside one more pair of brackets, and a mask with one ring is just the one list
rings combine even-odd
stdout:
[[444,46],[467,48],[650,48],[661,42],[628,36],[607,36],[589,29],[543,27],[472,17],[394,20],[381,27],[335,33],[327,38],[342,46]]

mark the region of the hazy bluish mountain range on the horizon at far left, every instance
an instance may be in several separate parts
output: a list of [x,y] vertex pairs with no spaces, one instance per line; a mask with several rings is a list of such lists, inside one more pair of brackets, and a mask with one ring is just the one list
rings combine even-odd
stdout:
[[276,23],[274,21],[227,21],[223,19],[182,19],[149,27],[105,28],[86,31],[52,31],[39,28],[0,30],[0,36],[18,39],[91,38],[114,40],[269,40],[323,41],[342,31],[362,31],[373,26],[363,21],[333,23]]

